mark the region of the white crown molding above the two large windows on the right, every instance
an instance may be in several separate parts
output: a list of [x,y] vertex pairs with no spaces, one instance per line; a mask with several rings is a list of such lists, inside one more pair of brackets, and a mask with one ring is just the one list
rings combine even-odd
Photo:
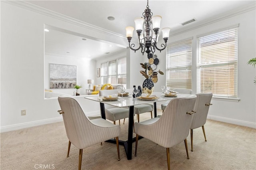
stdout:
[[188,27],[183,28],[183,29],[179,29],[178,31],[170,32],[170,37],[171,36],[176,36],[178,34],[182,34],[184,32],[188,32],[188,31],[191,31],[191,30],[203,27],[203,26],[207,26],[209,24],[213,24],[215,22],[219,22],[221,20],[225,20],[225,19],[231,18],[233,16],[237,16],[237,15],[255,10],[256,9],[255,4],[256,4],[255,2],[252,2],[252,3],[250,3],[246,6],[242,6],[240,8],[235,9],[235,10],[230,10],[229,12],[225,12],[225,13],[220,14],[218,16],[208,18],[207,20],[200,21],[197,24],[195,23],[196,25],[194,25],[194,26],[192,25],[192,26],[188,26]]

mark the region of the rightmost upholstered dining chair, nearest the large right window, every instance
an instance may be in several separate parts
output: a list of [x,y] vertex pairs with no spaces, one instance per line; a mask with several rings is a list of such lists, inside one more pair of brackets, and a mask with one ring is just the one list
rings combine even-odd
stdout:
[[193,129],[202,127],[204,133],[204,140],[206,140],[204,124],[206,123],[206,118],[208,115],[209,107],[212,100],[212,93],[198,93],[196,94],[196,105],[191,126],[190,126],[190,137],[191,137],[191,151],[193,151]]

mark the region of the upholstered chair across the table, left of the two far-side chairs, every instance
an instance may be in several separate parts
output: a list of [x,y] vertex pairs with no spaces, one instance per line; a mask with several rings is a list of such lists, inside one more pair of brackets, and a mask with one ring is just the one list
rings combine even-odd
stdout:
[[[107,96],[112,94],[118,94],[117,89],[113,90],[100,90],[99,95],[100,96]],[[110,105],[104,105],[105,107],[105,115],[106,119],[113,121],[114,124],[116,124],[116,121],[119,121],[120,125],[120,119],[125,119],[129,117],[129,108],[120,108],[120,107],[114,107]]]

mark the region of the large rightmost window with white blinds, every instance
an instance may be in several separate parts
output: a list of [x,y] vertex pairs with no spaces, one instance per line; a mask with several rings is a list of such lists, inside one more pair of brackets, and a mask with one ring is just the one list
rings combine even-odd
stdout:
[[197,93],[237,98],[237,27],[197,38]]

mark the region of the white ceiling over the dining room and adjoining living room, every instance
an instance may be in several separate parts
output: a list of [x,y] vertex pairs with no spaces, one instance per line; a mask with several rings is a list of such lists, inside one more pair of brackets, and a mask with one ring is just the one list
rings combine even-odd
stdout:
[[[147,5],[146,0],[29,0],[27,2],[122,36],[126,36],[126,26],[135,27],[134,18],[141,17]],[[171,36],[180,30],[186,30],[234,13],[244,6],[255,6],[255,1],[149,0],[148,5],[153,16],[162,16],[161,28],[171,28]],[[113,16],[115,20],[108,20],[108,16]],[[193,18],[196,19],[195,22],[185,26],[181,25]],[[134,31],[133,37],[135,38],[135,36]],[[46,32],[45,38],[45,52],[57,55],[95,58],[106,55],[106,52],[114,53],[124,49],[122,46],[110,47],[109,43],[88,38],[84,41],[82,35],[74,35],[71,32],[64,33],[60,30]]]

